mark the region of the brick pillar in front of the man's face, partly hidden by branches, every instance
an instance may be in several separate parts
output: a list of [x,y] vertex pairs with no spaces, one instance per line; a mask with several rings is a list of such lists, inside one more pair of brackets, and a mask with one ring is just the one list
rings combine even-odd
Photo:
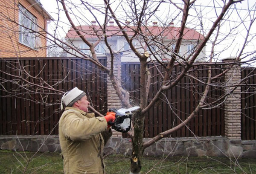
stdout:
[[[107,67],[111,68],[111,56],[107,55]],[[116,54],[113,60],[113,69],[114,69],[114,75],[117,77],[119,84],[121,84],[121,56],[119,54]],[[119,109],[122,107],[121,101],[119,97],[116,94],[116,91],[111,83],[111,80],[108,76],[108,110],[111,108]],[[117,132],[113,130],[113,136],[122,137],[121,132]]]

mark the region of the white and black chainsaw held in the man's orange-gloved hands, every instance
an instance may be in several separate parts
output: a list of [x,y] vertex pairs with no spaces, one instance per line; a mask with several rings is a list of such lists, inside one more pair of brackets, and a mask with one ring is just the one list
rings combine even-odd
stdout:
[[108,122],[108,124],[118,132],[126,133],[130,131],[132,113],[139,108],[139,106],[135,106],[128,109],[109,109],[109,112],[116,113],[116,119],[114,122]]

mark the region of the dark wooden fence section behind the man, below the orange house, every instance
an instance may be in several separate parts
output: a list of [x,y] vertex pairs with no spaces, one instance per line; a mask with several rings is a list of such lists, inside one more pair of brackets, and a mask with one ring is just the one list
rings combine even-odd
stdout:
[[[100,60],[106,65],[106,58]],[[12,74],[0,73],[0,135],[58,134],[62,94],[31,87],[29,83],[49,87],[44,83],[47,81],[61,91],[79,87],[89,94],[93,107],[101,113],[107,112],[107,75],[89,61],[76,58],[9,58],[8,61],[0,60],[0,67],[3,72]],[[31,76],[24,70],[20,71],[20,67],[24,67]],[[27,82],[15,77],[19,74]],[[41,94],[32,91],[40,91]]]

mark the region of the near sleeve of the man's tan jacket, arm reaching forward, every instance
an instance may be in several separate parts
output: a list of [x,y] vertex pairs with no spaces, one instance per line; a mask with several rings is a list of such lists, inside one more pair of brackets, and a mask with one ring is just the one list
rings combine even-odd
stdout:
[[64,136],[72,141],[83,141],[107,129],[104,118],[79,118],[76,113],[69,113],[62,118],[61,129]]

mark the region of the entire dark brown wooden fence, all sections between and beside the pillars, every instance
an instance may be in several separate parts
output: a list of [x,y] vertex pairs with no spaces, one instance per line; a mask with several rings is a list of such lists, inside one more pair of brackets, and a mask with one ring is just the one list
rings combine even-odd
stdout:
[[[100,59],[106,65],[106,58]],[[58,134],[58,120],[61,116],[59,108],[61,96],[50,90],[32,87],[29,83],[49,85],[61,91],[79,87],[90,96],[90,102],[102,114],[107,112],[107,75],[94,64],[81,59],[68,58],[9,58],[0,60],[0,135],[48,135]],[[20,71],[24,67],[27,73]],[[136,106],[140,102],[140,65],[138,63],[122,64],[122,86],[130,91],[131,104]],[[148,66],[152,85],[149,91],[148,102],[159,89],[161,80],[157,69]],[[161,67],[158,67],[163,71]],[[202,81],[207,80],[207,67],[195,67],[195,76]],[[11,75],[8,75],[10,73]],[[176,67],[172,76],[180,73]],[[213,75],[221,73],[221,67],[212,70]],[[255,70],[244,69],[242,78],[249,76],[247,85],[241,87],[242,120],[241,130],[243,140],[256,139],[256,96]],[[26,82],[20,80],[22,75]],[[32,78],[36,76],[36,78]],[[7,80],[7,81],[6,81]],[[16,81],[16,83],[14,83]],[[28,83],[29,82],[29,83]],[[213,81],[216,84],[223,82],[223,77]],[[41,94],[32,91],[40,91]],[[192,78],[183,78],[180,83],[165,93],[169,103],[161,102],[158,107],[153,107],[145,118],[144,137],[154,137],[166,131],[181,120],[189,116],[195,109],[198,100],[204,91],[204,85]],[[221,96],[224,90],[221,87],[211,87],[207,102],[212,102]],[[211,107],[211,106],[210,106]],[[191,136],[224,136],[224,106],[201,110],[187,125],[172,134],[172,137]]]

